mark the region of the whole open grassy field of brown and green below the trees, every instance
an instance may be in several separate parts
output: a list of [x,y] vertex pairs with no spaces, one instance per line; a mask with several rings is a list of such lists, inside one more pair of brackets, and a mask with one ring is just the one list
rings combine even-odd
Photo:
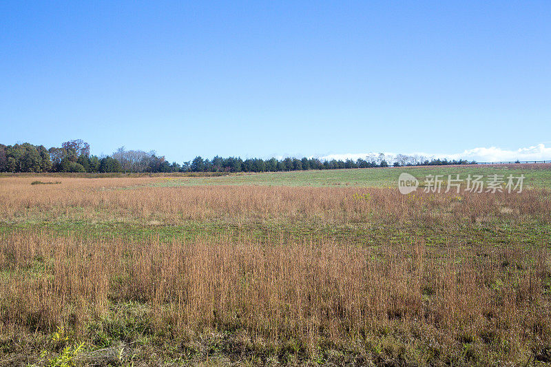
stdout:
[[[402,171],[525,189],[405,196]],[[0,364],[550,364],[550,188],[525,165],[0,177]]]

